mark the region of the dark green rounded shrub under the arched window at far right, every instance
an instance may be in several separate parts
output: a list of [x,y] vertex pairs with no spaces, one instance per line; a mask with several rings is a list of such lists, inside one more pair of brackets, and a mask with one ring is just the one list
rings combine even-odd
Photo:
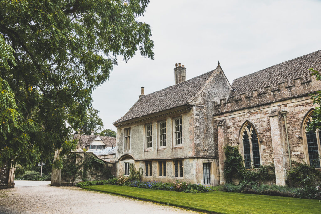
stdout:
[[285,181],[291,187],[316,187],[321,184],[321,172],[303,163],[296,163]]

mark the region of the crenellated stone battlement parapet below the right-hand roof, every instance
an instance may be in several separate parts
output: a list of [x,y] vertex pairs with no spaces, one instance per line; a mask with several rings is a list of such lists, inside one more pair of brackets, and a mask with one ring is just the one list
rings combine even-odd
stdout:
[[321,81],[317,81],[315,76],[310,76],[309,79],[297,78],[280,82],[277,86],[268,86],[247,93],[236,94],[231,91],[229,98],[213,102],[213,114],[218,115],[224,112],[304,96],[318,90],[321,90]]

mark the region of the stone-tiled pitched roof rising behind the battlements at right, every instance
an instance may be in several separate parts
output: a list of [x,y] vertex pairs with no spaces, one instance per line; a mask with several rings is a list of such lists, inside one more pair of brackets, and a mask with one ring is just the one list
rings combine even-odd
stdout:
[[273,65],[261,71],[248,74],[246,76],[235,79],[232,83],[234,89],[230,97],[240,99],[240,95],[247,93],[252,94],[252,90],[263,93],[264,88],[271,86],[271,90],[277,90],[279,83],[286,83],[287,86],[294,85],[294,80],[302,78],[302,82],[310,81],[311,71],[314,68],[321,71],[321,50],[300,56],[298,58]]

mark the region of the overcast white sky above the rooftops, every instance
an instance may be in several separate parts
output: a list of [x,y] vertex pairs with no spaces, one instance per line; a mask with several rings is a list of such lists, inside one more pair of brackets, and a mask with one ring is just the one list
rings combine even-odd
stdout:
[[93,92],[104,129],[145,94],[174,84],[175,63],[190,79],[216,68],[233,79],[321,49],[320,0],[151,0],[154,60],[139,52]]

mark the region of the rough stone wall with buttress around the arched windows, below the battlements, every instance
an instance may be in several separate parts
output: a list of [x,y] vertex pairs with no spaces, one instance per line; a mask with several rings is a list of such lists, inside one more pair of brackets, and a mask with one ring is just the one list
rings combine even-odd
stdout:
[[[225,138],[218,137],[219,146],[238,146],[243,154],[241,145],[242,125],[249,121],[256,129],[260,144],[262,165],[275,165],[276,183],[284,185],[286,172],[290,169],[289,154],[287,150],[285,124],[281,111],[287,111],[287,127],[290,143],[291,160],[306,162],[307,152],[304,149],[301,136],[301,124],[307,112],[315,107],[309,96],[285,99],[261,106],[241,108],[214,115],[216,126],[224,133]],[[227,110],[227,109],[226,109]],[[230,109],[232,110],[232,109]],[[220,142],[221,141],[221,142]],[[220,150],[220,149],[219,149]],[[220,154],[220,167],[223,168],[222,153]],[[221,171],[222,173],[222,171]]]

